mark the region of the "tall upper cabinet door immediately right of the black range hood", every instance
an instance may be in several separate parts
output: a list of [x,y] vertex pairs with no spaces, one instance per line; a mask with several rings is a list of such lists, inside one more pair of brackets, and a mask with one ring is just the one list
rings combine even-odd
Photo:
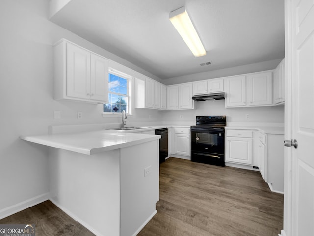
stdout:
[[229,77],[226,81],[226,107],[246,106],[246,80],[245,75]]

